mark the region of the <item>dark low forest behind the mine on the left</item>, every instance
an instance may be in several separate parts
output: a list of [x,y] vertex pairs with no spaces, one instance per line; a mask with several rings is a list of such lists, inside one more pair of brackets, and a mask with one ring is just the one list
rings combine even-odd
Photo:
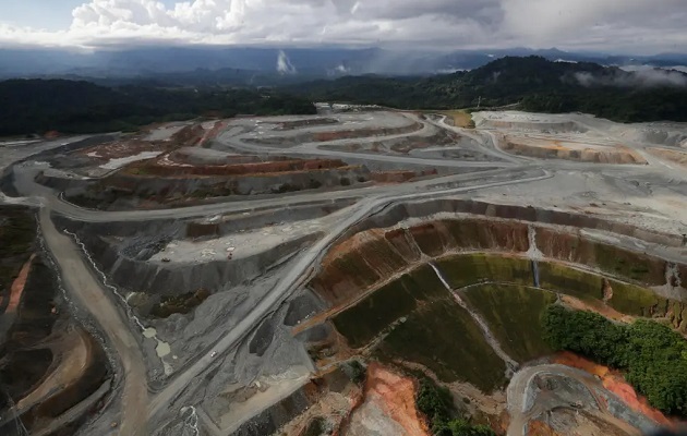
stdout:
[[0,135],[131,130],[156,121],[238,113],[315,113],[302,97],[257,89],[108,88],[64,80],[0,82]]

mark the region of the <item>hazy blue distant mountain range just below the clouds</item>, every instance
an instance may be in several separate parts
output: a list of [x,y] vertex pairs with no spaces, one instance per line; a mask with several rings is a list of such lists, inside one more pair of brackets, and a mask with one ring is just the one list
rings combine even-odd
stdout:
[[[602,65],[687,66],[687,55],[613,56],[532,50],[432,52],[381,48],[144,47],[94,52],[0,49],[0,78],[161,80],[177,85],[272,86],[345,75],[431,75],[472,70],[507,56]],[[110,83],[108,83],[110,84]]]

